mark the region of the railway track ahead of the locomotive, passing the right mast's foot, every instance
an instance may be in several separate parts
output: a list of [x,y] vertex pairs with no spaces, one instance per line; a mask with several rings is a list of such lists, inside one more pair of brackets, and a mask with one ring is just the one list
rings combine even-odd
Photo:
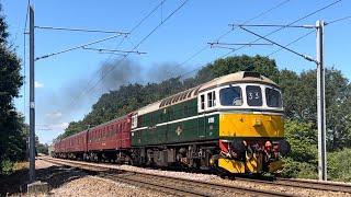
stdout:
[[279,178],[279,177],[275,178],[275,181],[252,179],[252,178],[242,178],[242,177],[236,177],[235,179],[258,183],[258,184],[290,186],[290,187],[296,187],[296,188],[318,189],[318,190],[328,190],[328,192],[341,192],[341,193],[350,193],[351,194],[351,185],[342,184],[342,183]]

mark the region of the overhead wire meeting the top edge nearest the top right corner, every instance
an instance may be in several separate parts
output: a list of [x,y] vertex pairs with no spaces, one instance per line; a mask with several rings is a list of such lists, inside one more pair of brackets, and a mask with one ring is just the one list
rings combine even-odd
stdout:
[[[341,2],[341,1],[342,1],[342,0],[338,0],[338,1],[335,1],[335,2],[332,2],[332,3],[329,3],[329,4],[327,4],[327,5],[322,7],[322,8],[314,11],[314,12],[310,12],[309,14],[307,14],[307,15],[305,15],[305,16],[303,16],[303,18],[299,18],[299,19],[297,19],[297,20],[288,23],[287,25],[284,25],[284,26],[293,25],[293,24],[295,24],[295,23],[297,23],[297,22],[299,22],[299,21],[302,21],[302,20],[304,20],[304,19],[307,19],[307,18],[309,18],[309,16],[312,16],[312,15],[314,15],[314,14],[316,14],[316,13],[322,11],[322,10],[326,10],[326,9],[332,7],[332,5],[335,5],[335,4],[337,4],[337,3]],[[264,35],[263,37],[270,36],[270,35],[272,35],[272,34],[274,34],[274,33],[276,33],[276,32],[279,32],[279,31],[282,31],[283,28],[285,28],[284,26],[282,26],[281,28],[275,30],[275,31],[273,31],[273,32]],[[250,42],[250,43],[256,43],[256,42],[258,42],[258,40],[261,40],[261,38],[257,38],[257,39],[254,39],[254,40],[252,40],[252,42]],[[237,49],[235,49],[235,50],[233,50],[233,51],[229,51],[229,53],[220,56],[219,58],[224,58],[224,57],[233,54],[234,51],[238,51],[238,50],[240,50],[240,49],[242,49],[242,48],[245,48],[245,47],[247,47],[247,46],[239,47],[239,48],[237,48]],[[204,67],[205,67],[205,66],[197,67],[197,68],[195,68],[194,70],[192,70],[192,71],[190,71],[190,72],[186,72],[185,74],[182,74],[181,78],[184,78],[185,76],[189,76],[189,74],[191,74],[192,72],[195,72],[196,70],[200,70],[201,68],[204,68]]]

